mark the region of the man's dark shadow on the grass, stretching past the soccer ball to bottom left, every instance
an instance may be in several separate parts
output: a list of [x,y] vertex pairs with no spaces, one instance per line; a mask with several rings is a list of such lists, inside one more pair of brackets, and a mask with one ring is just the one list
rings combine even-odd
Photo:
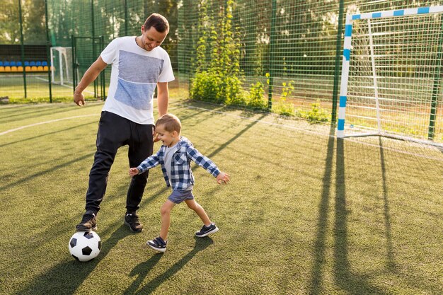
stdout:
[[[88,262],[78,262],[74,258],[59,262],[39,277],[35,277],[30,284],[17,291],[16,294],[74,294],[118,241],[131,234],[127,226],[121,225],[103,242],[103,248],[97,258]],[[100,235],[105,236],[105,233]],[[93,289],[91,289],[91,294],[93,294]]]

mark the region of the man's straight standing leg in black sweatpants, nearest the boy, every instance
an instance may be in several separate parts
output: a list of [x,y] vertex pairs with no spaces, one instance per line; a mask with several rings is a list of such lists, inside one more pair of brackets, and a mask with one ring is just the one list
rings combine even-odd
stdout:
[[[130,167],[139,166],[145,158],[152,155],[154,150],[154,125],[140,125],[131,122],[131,140],[128,150]],[[126,210],[127,213],[136,212],[142,202],[144,187],[146,187],[149,170],[132,178],[127,190]]]

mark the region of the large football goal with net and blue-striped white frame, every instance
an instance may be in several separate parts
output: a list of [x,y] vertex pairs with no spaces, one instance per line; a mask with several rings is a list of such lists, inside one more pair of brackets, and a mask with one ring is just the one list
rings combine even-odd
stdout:
[[338,137],[443,146],[443,6],[347,14]]

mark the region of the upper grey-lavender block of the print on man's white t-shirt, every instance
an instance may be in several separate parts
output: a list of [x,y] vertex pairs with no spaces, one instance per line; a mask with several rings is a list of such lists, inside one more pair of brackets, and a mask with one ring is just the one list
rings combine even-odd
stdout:
[[163,59],[120,50],[118,76],[135,83],[157,83],[163,62]]

